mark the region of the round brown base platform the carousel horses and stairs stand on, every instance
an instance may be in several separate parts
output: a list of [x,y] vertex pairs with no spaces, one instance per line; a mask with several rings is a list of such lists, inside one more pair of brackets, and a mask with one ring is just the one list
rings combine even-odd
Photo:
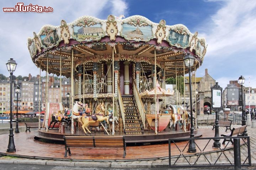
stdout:
[[[91,136],[109,136],[108,134],[104,133],[104,131],[94,131],[92,130]],[[111,132],[109,132],[110,136],[125,136],[125,141],[127,144],[130,145],[136,145],[138,143],[158,143],[158,142],[168,142],[169,138],[186,138],[190,137],[190,131],[187,130],[184,132],[183,130],[175,130],[174,128],[169,129],[166,128],[166,130],[158,132],[158,135],[155,134],[155,131],[148,130],[144,131],[144,134],[132,134],[132,135],[126,135],[123,132],[115,132],[114,135],[112,135]],[[201,137],[202,133],[200,130],[194,130],[195,137]],[[46,132],[45,128],[38,130],[38,133],[35,134],[36,138],[41,138],[45,140],[51,140],[51,141],[64,141],[63,136],[65,135],[71,135],[71,129],[70,127],[65,129],[65,133],[61,134],[59,133],[59,129],[49,129],[48,132]],[[78,130],[76,128],[76,131],[74,133],[75,136],[86,136],[84,131]]]

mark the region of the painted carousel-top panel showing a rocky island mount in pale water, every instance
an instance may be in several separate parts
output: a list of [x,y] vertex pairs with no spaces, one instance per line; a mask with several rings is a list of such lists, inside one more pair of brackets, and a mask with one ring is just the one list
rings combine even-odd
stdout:
[[124,23],[121,36],[126,40],[145,41],[153,39],[152,26],[140,18]]

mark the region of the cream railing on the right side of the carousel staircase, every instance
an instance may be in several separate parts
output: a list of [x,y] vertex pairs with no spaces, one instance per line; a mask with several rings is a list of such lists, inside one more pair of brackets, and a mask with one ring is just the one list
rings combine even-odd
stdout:
[[145,129],[145,108],[143,107],[143,102],[140,98],[140,94],[139,91],[137,89],[136,83],[133,80],[133,95],[134,95],[134,99],[135,102],[137,104],[138,110],[139,110],[139,114],[140,114],[140,118],[142,119],[142,124],[143,124],[143,128]]

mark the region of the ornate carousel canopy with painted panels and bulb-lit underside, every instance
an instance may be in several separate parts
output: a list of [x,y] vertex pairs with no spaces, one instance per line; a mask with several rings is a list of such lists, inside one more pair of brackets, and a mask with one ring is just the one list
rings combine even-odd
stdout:
[[[59,26],[45,25],[28,38],[32,61],[49,73],[70,77],[74,67],[85,63],[92,70],[93,62],[127,60],[141,62],[145,70],[155,63],[165,69],[165,77],[183,75],[183,57],[196,58],[192,70],[201,66],[207,45],[198,33],[192,34],[182,24],[167,26],[165,20],[151,22],[143,16],[128,18],[109,15],[106,20],[84,16]],[[48,61],[48,62],[47,62]],[[188,69],[185,73],[188,73]]]

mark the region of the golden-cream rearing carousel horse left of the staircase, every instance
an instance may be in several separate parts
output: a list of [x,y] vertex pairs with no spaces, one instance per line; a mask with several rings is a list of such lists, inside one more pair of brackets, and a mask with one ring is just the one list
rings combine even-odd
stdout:
[[[99,104],[95,109],[95,114],[90,116],[81,116],[78,121],[82,124],[82,129],[87,135],[86,130],[91,134],[91,131],[88,129],[90,123],[95,123],[97,121],[106,121],[108,124],[109,116],[105,116],[105,105],[104,103]],[[86,129],[86,130],[85,130]]]

